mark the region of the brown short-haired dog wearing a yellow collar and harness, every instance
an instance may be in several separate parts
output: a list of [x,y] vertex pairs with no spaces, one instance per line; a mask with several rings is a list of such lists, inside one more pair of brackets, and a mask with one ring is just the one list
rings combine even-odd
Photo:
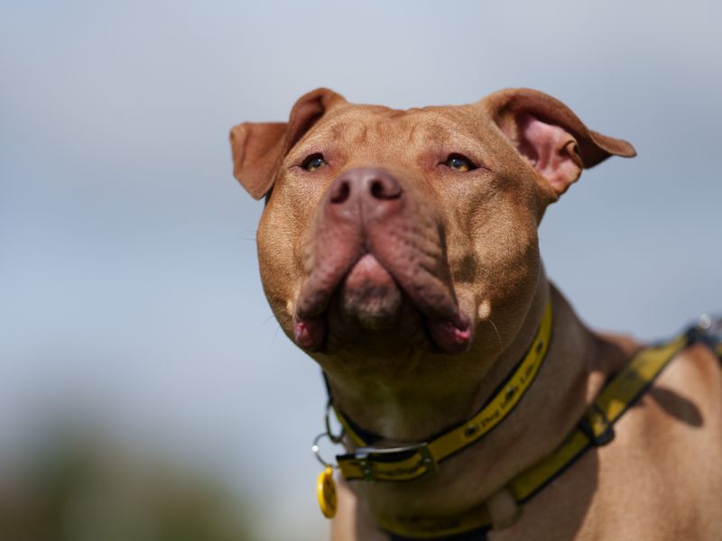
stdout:
[[[347,427],[334,539],[722,535],[715,354],[674,349],[641,398],[607,400],[632,406],[611,426],[613,405],[592,404],[641,347],[589,331],[542,269],[547,206],[582,169],[634,156],[628,142],[528,89],[399,111],[323,88],[231,142],[236,178],[266,197],[265,294]],[[582,431],[590,411],[602,428]],[[468,441],[441,456],[440,435]],[[578,436],[591,446],[542,475]],[[400,445],[387,468],[382,450]],[[523,472],[543,482],[522,498]]]

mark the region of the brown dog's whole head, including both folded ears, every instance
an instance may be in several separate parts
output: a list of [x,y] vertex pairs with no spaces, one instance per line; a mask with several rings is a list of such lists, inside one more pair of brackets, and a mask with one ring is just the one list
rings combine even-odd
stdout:
[[634,155],[523,89],[407,111],[319,89],[288,124],[231,138],[236,177],[267,197],[258,253],[282,329],[327,371],[375,377],[493,361],[544,280],[546,206],[582,168]]

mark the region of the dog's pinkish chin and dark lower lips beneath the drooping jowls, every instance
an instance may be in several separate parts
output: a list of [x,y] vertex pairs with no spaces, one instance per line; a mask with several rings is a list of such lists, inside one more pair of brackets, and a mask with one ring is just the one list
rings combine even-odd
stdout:
[[293,335],[301,348],[322,353],[352,347],[387,356],[410,346],[433,353],[463,353],[472,334],[467,318],[456,312],[450,318],[422,313],[391,273],[366,253],[322,313],[296,316]]

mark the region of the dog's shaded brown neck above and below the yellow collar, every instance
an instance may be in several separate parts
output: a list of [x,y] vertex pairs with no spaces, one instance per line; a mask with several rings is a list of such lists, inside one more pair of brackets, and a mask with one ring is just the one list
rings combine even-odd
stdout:
[[[459,386],[454,381],[445,386],[444,381],[436,381],[421,389],[418,397],[413,392],[387,391],[379,392],[375,399],[366,397],[356,402],[344,394],[345,386],[333,388],[331,383],[340,408],[360,426],[384,436],[381,445],[423,441],[433,432],[476,413],[529,347],[543,307],[550,299],[554,317],[550,349],[536,381],[513,415],[464,453],[443,463],[435,478],[414,491],[411,499],[408,495],[399,498],[399,487],[394,483],[353,483],[370,503],[372,513],[391,511],[403,515],[409,509],[463,512],[485,501],[515,475],[551,454],[579,422],[610,371],[629,356],[633,346],[614,344],[590,333],[559,291],[544,281],[518,339],[491,366],[479,368],[483,377],[474,380],[474,385]],[[436,393],[433,398],[431,392]],[[372,419],[384,422],[373,424]],[[365,421],[372,424],[366,425]],[[417,432],[413,434],[413,430]]]

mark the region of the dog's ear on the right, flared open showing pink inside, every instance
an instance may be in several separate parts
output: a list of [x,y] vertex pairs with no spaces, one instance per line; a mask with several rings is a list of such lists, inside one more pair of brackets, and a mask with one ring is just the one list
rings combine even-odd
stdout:
[[508,88],[486,96],[481,105],[546,179],[554,199],[579,179],[582,169],[612,155],[636,155],[630,143],[589,130],[567,105],[536,90]]

